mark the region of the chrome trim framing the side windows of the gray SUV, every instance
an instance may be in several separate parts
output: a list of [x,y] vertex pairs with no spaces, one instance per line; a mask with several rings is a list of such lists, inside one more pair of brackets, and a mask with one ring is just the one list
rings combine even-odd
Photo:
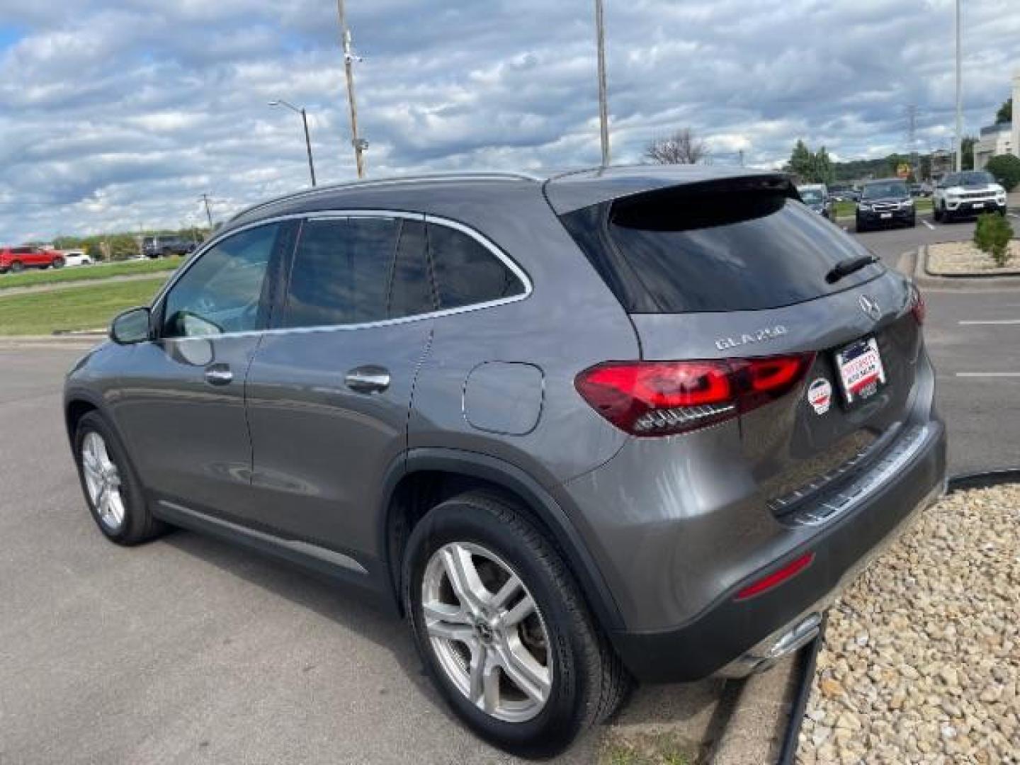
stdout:
[[237,228],[232,228],[228,232],[223,233],[219,237],[210,239],[208,242],[203,243],[202,247],[195,251],[195,254],[189,259],[187,263],[181,266],[178,272],[173,275],[172,278],[168,279],[163,288],[157,293],[156,297],[151,303],[151,310],[156,312],[159,307],[160,302],[165,298],[166,294],[173,289],[173,286],[177,280],[184,276],[189,268],[191,268],[199,258],[201,258],[206,252],[211,250],[220,242],[226,241],[228,238],[236,234],[241,234],[242,232],[248,231],[249,228],[254,228],[259,225],[269,225],[271,223],[278,223],[286,220],[329,220],[337,218],[391,218],[391,219],[405,219],[405,220],[421,220],[424,223],[435,223],[437,225],[444,225],[448,228],[453,228],[455,231],[464,234],[475,242],[484,247],[489,252],[494,255],[503,265],[505,265],[517,278],[520,279],[521,284],[524,286],[524,292],[520,295],[513,295],[509,298],[500,298],[498,300],[490,300],[482,303],[471,303],[470,305],[458,306],[457,308],[446,308],[438,311],[429,311],[428,313],[417,313],[413,316],[401,316],[399,318],[392,319],[380,319],[378,321],[364,321],[357,324],[321,324],[316,326],[292,326],[292,327],[278,327],[271,329],[250,329],[247,332],[237,332],[237,333],[222,333],[221,335],[194,335],[185,338],[161,338],[163,341],[189,341],[189,340],[218,340],[220,338],[252,338],[261,336],[272,336],[272,335],[297,335],[304,333],[321,333],[321,332],[334,332],[334,330],[351,330],[351,329],[371,329],[378,326],[392,326],[394,324],[404,324],[411,321],[422,321],[424,319],[441,318],[443,316],[453,316],[458,313],[467,313],[469,311],[477,311],[486,308],[495,308],[501,305],[508,305],[510,303],[516,303],[521,300],[526,300],[531,296],[533,292],[533,287],[531,285],[531,279],[527,275],[527,272],[521,268],[516,261],[514,261],[509,255],[503,252],[496,244],[494,244],[489,238],[487,238],[480,232],[472,228],[469,225],[461,223],[458,220],[452,220],[450,218],[445,218],[440,215],[432,215],[426,212],[408,212],[406,210],[384,210],[384,209],[340,209],[340,210],[314,210],[309,212],[297,212],[290,213],[288,215],[279,215],[276,217],[265,218],[264,220],[259,220],[254,223],[247,223],[243,226]]

